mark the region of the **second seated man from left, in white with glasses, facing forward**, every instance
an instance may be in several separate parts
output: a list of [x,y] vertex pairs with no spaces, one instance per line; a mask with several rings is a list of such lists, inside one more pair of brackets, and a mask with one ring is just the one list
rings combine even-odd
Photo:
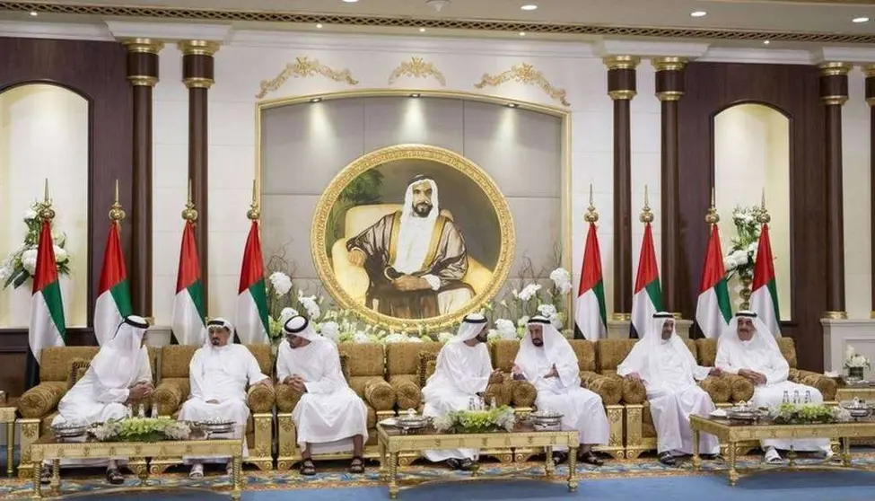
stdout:
[[[251,384],[270,384],[270,378],[261,374],[258,360],[249,348],[233,343],[231,322],[216,318],[206,323],[206,345],[197,348],[188,365],[191,394],[179,409],[181,421],[222,420],[236,424],[234,438],[244,436],[249,407],[246,405],[246,387]],[[243,440],[243,457],[249,455]],[[230,475],[232,461],[228,457],[182,458],[191,464],[188,477],[202,479],[204,462],[225,463]]]

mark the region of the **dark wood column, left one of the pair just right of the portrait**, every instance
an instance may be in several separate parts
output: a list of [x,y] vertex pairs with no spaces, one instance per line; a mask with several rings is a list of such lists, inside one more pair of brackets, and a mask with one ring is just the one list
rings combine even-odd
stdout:
[[632,140],[629,104],[635,97],[635,56],[605,57],[608,95],[614,100],[614,313],[632,316]]

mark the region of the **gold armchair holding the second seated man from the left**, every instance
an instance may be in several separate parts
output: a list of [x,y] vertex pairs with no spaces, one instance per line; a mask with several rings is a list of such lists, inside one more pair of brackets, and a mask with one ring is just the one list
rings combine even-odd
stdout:
[[[270,345],[246,345],[246,347],[258,360],[261,372],[268,376],[273,374]],[[188,400],[190,392],[188,365],[197,348],[197,346],[184,345],[162,347],[161,379],[153,394],[153,399],[158,403],[159,415],[171,418],[179,416],[179,408]],[[259,470],[273,470],[274,460],[271,449],[274,401],[274,390],[267,386],[252,385],[247,391],[246,403],[249,406],[250,416],[246,424],[246,441],[249,446],[249,458],[246,462],[258,466]],[[181,463],[180,457],[153,458],[149,470],[157,474]]]

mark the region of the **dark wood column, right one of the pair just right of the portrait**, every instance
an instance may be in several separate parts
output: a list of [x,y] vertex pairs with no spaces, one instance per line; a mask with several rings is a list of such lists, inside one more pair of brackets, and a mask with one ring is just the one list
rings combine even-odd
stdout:
[[683,57],[656,57],[656,97],[662,111],[662,300],[680,318],[680,188],[678,171],[678,100],[684,95]]

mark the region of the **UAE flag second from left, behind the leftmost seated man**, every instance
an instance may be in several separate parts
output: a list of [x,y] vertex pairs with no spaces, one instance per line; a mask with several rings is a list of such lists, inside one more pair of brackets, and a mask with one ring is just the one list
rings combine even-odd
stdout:
[[94,336],[103,344],[115,333],[118,324],[133,314],[127,286],[125,256],[121,252],[118,223],[109,224],[106,251],[103,252],[100,290],[94,305]]

